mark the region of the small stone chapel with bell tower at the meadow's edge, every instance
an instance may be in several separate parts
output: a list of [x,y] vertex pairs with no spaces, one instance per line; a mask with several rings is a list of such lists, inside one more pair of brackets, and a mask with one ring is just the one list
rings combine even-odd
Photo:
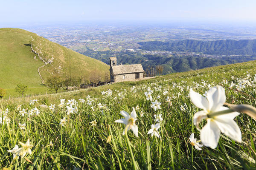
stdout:
[[141,64],[116,65],[116,57],[110,57],[111,82],[123,82],[143,78],[144,70]]

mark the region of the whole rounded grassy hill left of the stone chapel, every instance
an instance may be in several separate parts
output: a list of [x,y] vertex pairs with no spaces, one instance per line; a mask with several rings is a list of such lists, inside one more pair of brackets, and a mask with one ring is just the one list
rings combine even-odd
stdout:
[[29,92],[44,88],[38,74],[43,65],[39,69],[43,81],[55,74],[83,75],[89,79],[96,71],[102,75],[109,71],[109,66],[99,60],[16,28],[0,28],[0,63],[0,88],[8,89],[12,95],[12,89],[19,83],[28,85]]

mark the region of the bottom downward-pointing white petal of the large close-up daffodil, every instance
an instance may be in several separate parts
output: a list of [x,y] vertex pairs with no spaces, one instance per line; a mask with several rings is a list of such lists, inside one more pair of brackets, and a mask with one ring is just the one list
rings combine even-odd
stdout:
[[220,138],[220,130],[218,125],[211,119],[207,120],[207,124],[202,128],[200,133],[200,139],[202,144],[207,147],[215,149],[218,145]]

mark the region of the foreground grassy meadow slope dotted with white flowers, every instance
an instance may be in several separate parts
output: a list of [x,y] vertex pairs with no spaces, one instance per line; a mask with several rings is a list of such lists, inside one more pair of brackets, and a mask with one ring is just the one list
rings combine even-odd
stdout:
[[[256,61],[244,62],[140,82],[120,82],[81,91],[2,100],[0,108],[3,111],[9,109],[5,121],[9,119],[7,122],[10,123],[0,125],[0,167],[102,170],[133,169],[138,165],[146,170],[253,169],[256,167],[255,120],[245,114],[234,119],[241,130],[241,143],[221,133],[215,149],[203,146],[202,150],[196,150],[189,137],[194,133],[195,138],[200,139],[193,116],[201,109],[191,102],[188,94],[190,88],[204,94],[209,88],[220,85],[224,87],[227,103],[255,107],[255,65]],[[151,101],[146,100],[144,92],[150,90],[153,101],[161,102],[161,109],[154,111]],[[172,105],[166,102],[167,96]],[[29,104],[32,99],[37,99],[38,103]],[[63,108],[58,106],[60,99],[66,99]],[[72,103],[68,101],[70,99],[73,99],[73,108],[77,109],[67,114],[66,106]],[[41,108],[41,104],[50,107]],[[54,110],[51,104],[55,104]],[[30,114],[22,115],[16,109],[17,105]],[[120,111],[130,114],[133,107],[138,108],[135,124],[139,133],[136,137],[129,130],[127,139],[122,135],[125,125],[115,121],[124,118]],[[157,124],[154,114],[161,114],[163,118],[158,129],[161,139],[147,134],[151,125]],[[64,117],[66,121],[63,121]],[[200,128],[205,124],[206,121],[201,122]],[[27,153],[13,161],[13,154],[7,150],[14,148],[15,144],[21,147],[19,142],[25,143],[27,139],[30,139],[32,154]],[[197,142],[201,144],[201,141]]]

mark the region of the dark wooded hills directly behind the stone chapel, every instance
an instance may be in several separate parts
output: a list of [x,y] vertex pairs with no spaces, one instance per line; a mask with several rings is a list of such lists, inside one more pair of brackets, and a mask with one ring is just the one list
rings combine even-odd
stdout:
[[183,72],[197,70],[201,68],[213,67],[218,65],[233,64],[237,62],[247,61],[246,59],[213,59],[207,57],[177,57],[177,56],[160,56],[150,54],[140,54],[130,51],[113,52],[113,51],[92,51],[87,50],[81,54],[99,59],[106,64],[109,63],[109,57],[116,56],[118,64],[137,64],[141,63],[144,70],[148,65],[163,65],[163,74],[171,74],[175,72]]

